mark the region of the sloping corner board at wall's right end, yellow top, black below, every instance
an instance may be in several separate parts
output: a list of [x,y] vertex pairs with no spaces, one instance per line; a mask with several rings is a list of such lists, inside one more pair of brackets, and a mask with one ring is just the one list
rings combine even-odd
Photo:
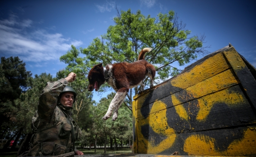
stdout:
[[224,55],[240,80],[245,93],[251,100],[254,111],[256,111],[256,80],[234,47],[230,47],[229,49],[225,50]]

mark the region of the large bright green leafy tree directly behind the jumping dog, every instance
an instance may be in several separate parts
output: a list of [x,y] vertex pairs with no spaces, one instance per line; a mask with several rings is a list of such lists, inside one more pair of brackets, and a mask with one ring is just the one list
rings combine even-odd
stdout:
[[[141,11],[132,13],[117,11],[114,19],[115,25],[107,29],[107,33],[100,38],[93,39],[87,48],[80,51],[72,46],[71,51],[60,58],[68,64],[69,70],[77,70],[82,75],[88,74],[90,68],[98,63],[103,65],[115,62],[135,62],[139,52],[144,47],[152,47],[152,51],[146,54],[145,60],[153,64],[157,75],[155,83],[158,84],[171,76],[175,76],[182,70],[172,66],[178,62],[179,66],[197,58],[198,55],[207,53],[203,47],[204,36],[190,35],[185,29],[185,24],[178,21],[174,11],[168,14],[159,13],[157,18],[150,15],[145,17]],[[85,57],[80,57],[83,54]],[[148,78],[143,83],[148,84]],[[107,85],[99,91],[106,91]],[[131,110],[132,95],[137,94],[139,88],[130,90],[127,94],[126,105]]]

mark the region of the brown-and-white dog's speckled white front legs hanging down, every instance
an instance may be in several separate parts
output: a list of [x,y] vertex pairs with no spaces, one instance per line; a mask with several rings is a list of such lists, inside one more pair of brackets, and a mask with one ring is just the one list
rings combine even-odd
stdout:
[[[103,120],[107,120],[111,116],[113,109],[118,110],[119,105],[123,103],[128,91],[129,91],[129,88],[118,89],[117,93],[115,94],[115,97],[110,102],[107,113],[104,115],[104,117],[102,117]],[[114,112],[113,116],[115,116],[113,119],[117,119],[117,112]]]

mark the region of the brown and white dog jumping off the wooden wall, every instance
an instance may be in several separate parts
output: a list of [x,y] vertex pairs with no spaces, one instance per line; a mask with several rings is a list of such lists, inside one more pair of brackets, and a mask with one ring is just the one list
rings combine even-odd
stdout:
[[126,94],[130,88],[141,85],[141,91],[145,85],[143,79],[148,76],[150,78],[150,87],[153,86],[155,77],[155,67],[144,60],[144,55],[150,52],[152,48],[144,48],[139,53],[138,61],[133,63],[121,62],[116,64],[108,64],[103,68],[102,63],[93,66],[89,71],[88,91],[98,91],[100,86],[108,82],[110,86],[117,92],[114,99],[111,101],[106,115],[102,119],[108,119],[113,111],[112,120],[117,119],[118,108],[123,103]]

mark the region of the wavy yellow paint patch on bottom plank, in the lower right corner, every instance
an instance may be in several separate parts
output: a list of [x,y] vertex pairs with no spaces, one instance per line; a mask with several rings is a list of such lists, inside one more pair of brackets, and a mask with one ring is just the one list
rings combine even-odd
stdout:
[[223,156],[254,156],[256,155],[256,129],[248,128],[243,138],[231,142],[225,151],[215,149],[215,139],[206,135],[191,135],[184,144],[188,155],[223,155]]

